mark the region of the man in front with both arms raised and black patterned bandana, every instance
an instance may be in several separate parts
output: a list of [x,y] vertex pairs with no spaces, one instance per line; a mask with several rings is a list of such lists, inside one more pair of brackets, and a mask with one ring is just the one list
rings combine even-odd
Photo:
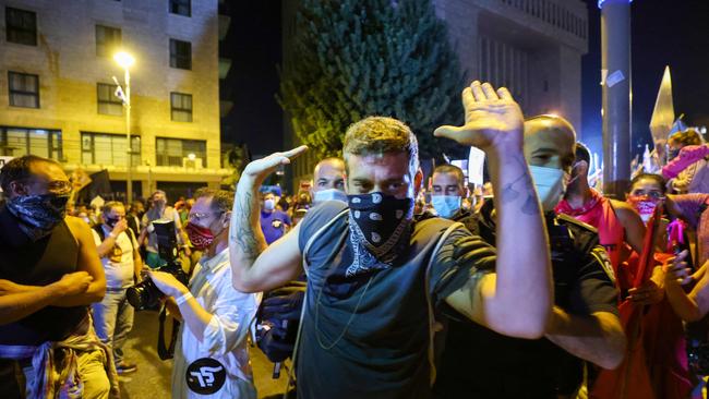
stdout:
[[432,254],[452,222],[412,221],[422,173],[416,136],[398,120],[352,124],[344,146],[348,204],[315,207],[268,247],[259,229],[257,189],[307,148],[244,169],[229,239],[235,288],[279,287],[308,265],[296,364],[300,398],[431,398],[429,303],[504,335],[544,332],[553,297],[549,243],[522,155],[521,111],[506,88],[489,83],[466,87],[462,104],[465,124],[434,134],[488,154],[498,209],[496,255],[464,228]]

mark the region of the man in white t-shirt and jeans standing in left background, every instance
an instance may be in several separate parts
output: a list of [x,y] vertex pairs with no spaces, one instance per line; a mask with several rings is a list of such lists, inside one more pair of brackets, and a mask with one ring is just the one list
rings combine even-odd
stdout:
[[125,207],[109,201],[101,208],[103,222],[92,228],[98,256],[106,273],[106,297],[92,305],[96,335],[113,350],[113,362],[119,374],[137,370],[123,360],[123,343],[133,328],[133,306],[128,303],[125,290],[140,282],[143,261],[137,240],[128,227]]

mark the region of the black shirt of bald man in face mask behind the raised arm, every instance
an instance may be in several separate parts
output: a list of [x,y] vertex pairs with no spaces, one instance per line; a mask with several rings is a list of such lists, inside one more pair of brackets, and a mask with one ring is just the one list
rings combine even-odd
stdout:
[[[492,203],[461,222],[494,244]],[[548,215],[546,227],[555,304],[576,315],[617,315],[617,289],[596,231],[553,215]],[[448,324],[434,391],[437,398],[556,398],[557,392],[573,392],[581,373],[582,362],[548,339],[505,337],[458,319]]]

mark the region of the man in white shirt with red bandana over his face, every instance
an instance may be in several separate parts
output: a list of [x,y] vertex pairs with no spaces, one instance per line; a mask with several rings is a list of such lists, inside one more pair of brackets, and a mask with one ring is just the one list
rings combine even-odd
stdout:
[[170,274],[151,273],[155,286],[169,297],[170,313],[183,321],[175,350],[173,398],[256,398],[247,337],[257,297],[231,287],[228,237],[232,206],[231,192],[196,192],[184,230],[203,255],[189,287]]

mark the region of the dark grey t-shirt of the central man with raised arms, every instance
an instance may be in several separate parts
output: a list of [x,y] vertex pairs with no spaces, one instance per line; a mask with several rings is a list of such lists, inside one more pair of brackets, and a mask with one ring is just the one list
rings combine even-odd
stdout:
[[[301,221],[303,251],[309,239],[336,218],[305,256],[308,300],[298,354],[298,396],[430,398],[425,270],[437,238],[452,222],[441,218],[414,222],[410,246],[394,265],[346,277],[353,255],[348,217],[337,217],[344,209],[343,203],[324,203]],[[464,235],[470,232],[456,229],[448,240]],[[437,253],[429,275],[429,294],[436,307],[471,276],[486,273],[478,269],[494,263],[493,256],[472,267],[442,266],[450,256],[449,251]]]

